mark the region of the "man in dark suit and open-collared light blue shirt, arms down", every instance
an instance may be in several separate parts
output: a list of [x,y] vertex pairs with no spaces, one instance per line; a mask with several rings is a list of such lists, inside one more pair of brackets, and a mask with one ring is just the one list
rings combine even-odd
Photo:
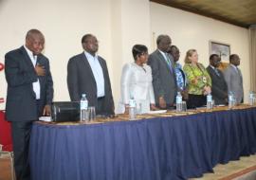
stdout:
[[84,51],[70,58],[67,64],[67,86],[72,101],[86,94],[89,106],[96,107],[98,115],[114,115],[114,101],[107,65],[96,53],[97,38],[92,34],[82,37]]

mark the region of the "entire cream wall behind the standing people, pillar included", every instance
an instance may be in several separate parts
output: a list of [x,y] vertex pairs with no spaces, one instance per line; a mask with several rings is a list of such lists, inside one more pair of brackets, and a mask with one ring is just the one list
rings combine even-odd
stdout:
[[[189,48],[208,64],[209,40],[231,45],[231,52],[242,59],[246,92],[249,85],[247,29],[168,8],[148,0],[0,0],[0,62],[5,53],[24,44],[29,28],[39,28],[46,36],[45,54],[50,59],[55,100],[68,100],[66,64],[82,52],[81,38],[95,34],[100,41],[99,54],[106,59],[116,103],[119,78],[124,63],[132,62],[135,44],[155,49],[155,36],[169,34],[181,50],[181,59]],[[6,97],[7,84],[0,73],[0,98]],[[5,105],[1,104],[0,109]]]

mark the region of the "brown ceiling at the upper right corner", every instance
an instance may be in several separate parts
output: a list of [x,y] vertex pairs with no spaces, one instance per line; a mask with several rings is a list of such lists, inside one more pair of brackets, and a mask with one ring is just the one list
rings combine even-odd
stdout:
[[239,27],[256,24],[256,0],[150,0]]

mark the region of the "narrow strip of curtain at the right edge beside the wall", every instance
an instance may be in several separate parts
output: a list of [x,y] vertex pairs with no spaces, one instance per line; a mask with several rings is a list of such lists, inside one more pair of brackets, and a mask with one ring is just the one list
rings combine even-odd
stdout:
[[256,25],[249,27],[250,89],[256,91]]

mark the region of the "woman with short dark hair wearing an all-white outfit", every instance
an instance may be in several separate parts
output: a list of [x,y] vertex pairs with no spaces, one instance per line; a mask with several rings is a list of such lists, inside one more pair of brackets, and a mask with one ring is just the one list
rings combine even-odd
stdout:
[[141,113],[148,113],[156,109],[152,71],[147,65],[148,48],[145,45],[134,45],[132,52],[135,62],[127,63],[122,68],[119,113],[129,112],[129,99],[135,99],[141,104]]

